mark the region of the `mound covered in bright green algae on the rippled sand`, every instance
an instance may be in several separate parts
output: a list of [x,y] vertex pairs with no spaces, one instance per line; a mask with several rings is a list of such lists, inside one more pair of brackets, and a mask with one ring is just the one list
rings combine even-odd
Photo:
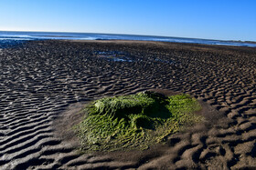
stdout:
[[75,130],[84,151],[145,149],[165,141],[182,125],[194,124],[201,109],[189,95],[165,96],[145,91],[106,97],[87,105]]

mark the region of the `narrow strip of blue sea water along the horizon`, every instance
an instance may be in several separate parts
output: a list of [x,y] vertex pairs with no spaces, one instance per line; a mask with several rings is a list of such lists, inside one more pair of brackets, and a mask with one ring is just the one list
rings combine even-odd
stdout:
[[160,41],[174,43],[195,43],[204,45],[235,45],[256,47],[256,44],[246,42],[208,40],[197,38],[180,38],[167,36],[149,35],[111,35],[111,34],[91,34],[91,33],[57,33],[57,32],[9,32],[0,31],[0,48],[16,45],[27,40],[141,40]]

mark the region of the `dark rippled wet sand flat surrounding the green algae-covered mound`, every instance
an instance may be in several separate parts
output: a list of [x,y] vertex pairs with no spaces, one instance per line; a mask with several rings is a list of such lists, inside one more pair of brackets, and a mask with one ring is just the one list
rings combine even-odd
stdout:
[[[82,105],[150,89],[195,96],[206,121],[148,150],[80,155],[69,128]],[[0,50],[0,169],[129,168],[256,168],[256,48],[48,40]]]

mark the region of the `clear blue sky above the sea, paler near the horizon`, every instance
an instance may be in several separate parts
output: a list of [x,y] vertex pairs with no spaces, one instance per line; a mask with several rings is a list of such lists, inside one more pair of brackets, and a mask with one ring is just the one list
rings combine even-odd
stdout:
[[0,30],[256,41],[256,0],[0,0]]

